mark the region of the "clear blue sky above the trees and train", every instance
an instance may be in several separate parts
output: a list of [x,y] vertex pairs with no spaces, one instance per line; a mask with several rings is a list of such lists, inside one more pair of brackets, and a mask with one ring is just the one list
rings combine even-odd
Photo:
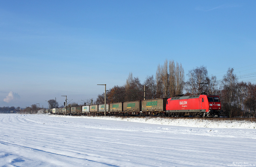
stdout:
[[[256,1],[1,1],[0,106],[93,98],[173,59],[255,83]],[[251,75],[252,74],[252,75]],[[250,76],[245,76],[250,75]],[[244,77],[243,77],[244,76]],[[248,77],[248,78],[245,78]]]

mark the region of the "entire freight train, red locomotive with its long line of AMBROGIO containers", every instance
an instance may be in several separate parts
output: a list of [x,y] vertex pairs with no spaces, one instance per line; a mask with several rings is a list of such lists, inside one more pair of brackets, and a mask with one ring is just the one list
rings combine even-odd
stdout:
[[[221,104],[217,95],[191,95],[106,104],[106,115],[218,117]],[[67,115],[104,115],[105,104],[53,108],[51,113]]]

